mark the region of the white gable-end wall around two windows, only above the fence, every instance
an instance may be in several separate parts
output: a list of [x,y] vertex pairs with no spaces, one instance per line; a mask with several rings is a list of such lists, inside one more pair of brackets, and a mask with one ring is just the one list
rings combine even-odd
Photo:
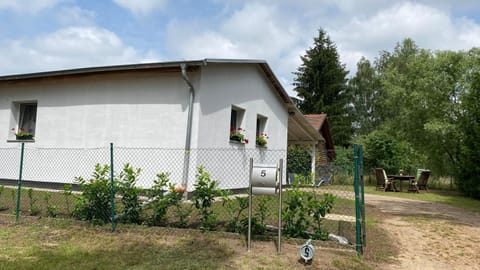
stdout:
[[[227,68],[228,67],[228,68]],[[245,110],[246,149],[255,149],[257,115],[268,118],[265,132],[267,148],[287,146],[288,113],[275,90],[257,65],[213,64],[202,70],[198,91],[200,119],[198,147],[237,147],[229,140],[232,105]]]

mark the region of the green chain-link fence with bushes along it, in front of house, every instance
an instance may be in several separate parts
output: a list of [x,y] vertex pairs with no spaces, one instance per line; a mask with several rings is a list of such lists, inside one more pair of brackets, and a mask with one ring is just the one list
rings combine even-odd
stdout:
[[[250,158],[278,164],[287,151],[0,148],[0,214],[17,222],[28,215],[112,223],[113,229],[117,223],[143,223],[244,233]],[[313,177],[283,168],[284,235],[326,240],[330,233],[354,247],[352,169],[317,164]],[[253,196],[254,235],[275,234],[277,210],[275,196]]]

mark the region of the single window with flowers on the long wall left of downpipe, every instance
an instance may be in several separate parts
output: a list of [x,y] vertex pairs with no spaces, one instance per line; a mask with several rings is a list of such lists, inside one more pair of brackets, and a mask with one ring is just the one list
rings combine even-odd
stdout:
[[31,139],[32,136],[35,136],[36,122],[37,102],[14,102],[12,104],[12,136],[22,132],[24,135],[20,136],[20,139]]

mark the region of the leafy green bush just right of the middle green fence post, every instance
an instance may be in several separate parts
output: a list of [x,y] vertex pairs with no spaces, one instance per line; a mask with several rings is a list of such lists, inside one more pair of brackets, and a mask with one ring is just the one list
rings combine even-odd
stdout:
[[134,169],[127,163],[117,179],[118,193],[122,196],[121,202],[123,205],[118,218],[120,222],[141,223],[142,207],[139,197],[142,189],[135,186],[140,172],[140,168]]

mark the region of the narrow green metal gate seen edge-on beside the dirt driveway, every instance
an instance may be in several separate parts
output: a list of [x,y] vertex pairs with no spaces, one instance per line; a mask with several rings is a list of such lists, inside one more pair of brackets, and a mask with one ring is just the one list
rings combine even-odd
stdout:
[[354,157],[354,187],[355,187],[355,216],[356,216],[356,250],[363,253],[366,246],[365,228],[365,194],[363,183],[363,148],[361,145],[353,145]]

